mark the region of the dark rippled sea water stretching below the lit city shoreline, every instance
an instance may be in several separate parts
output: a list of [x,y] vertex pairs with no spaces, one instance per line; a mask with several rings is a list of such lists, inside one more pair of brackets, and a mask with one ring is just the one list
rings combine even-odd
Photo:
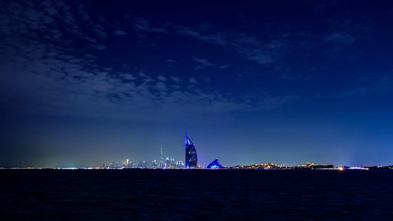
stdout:
[[393,171],[0,170],[1,220],[393,220]]

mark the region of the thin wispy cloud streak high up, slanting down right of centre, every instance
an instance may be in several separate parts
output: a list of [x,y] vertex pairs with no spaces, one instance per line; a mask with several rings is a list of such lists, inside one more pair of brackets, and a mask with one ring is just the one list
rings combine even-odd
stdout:
[[[151,26],[149,20],[140,17],[134,19],[134,29],[136,31],[144,30],[186,35],[199,41],[223,46],[226,49],[239,53],[246,60],[255,61],[263,65],[276,64],[282,57],[284,57],[287,53],[285,49],[288,47],[288,40],[286,38],[292,35],[292,33],[288,31],[290,30],[289,26],[284,26],[279,30],[281,32],[282,29],[285,30],[285,33],[281,35],[273,33],[235,33],[233,30],[219,30],[211,23],[208,25],[202,25],[203,27],[200,28],[200,31],[195,31],[190,27],[170,23],[164,23],[162,26],[165,26],[165,28],[154,28]],[[280,27],[276,29],[279,28]],[[201,65],[214,66],[214,64],[209,62],[204,64],[201,63]]]

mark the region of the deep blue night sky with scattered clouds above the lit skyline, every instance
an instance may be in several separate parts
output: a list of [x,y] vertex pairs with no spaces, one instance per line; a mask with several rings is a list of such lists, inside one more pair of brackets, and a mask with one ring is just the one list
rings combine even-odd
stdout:
[[393,164],[390,1],[2,1],[0,167]]

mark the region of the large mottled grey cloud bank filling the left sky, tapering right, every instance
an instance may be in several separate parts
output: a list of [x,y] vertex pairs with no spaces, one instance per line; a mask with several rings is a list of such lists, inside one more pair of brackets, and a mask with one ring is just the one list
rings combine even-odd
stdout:
[[[196,90],[194,77],[186,82],[187,86],[194,85],[190,90],[178,85],[181,82],[178,77],[171,77],[174,85],[167,87],[160,79],[155,80],[149,70],[133,69],[129,64],[119,66],[132,73],[128,74],[115,72],[116,66],[104,66],[101,61],[105,55],[92,55],[90,51],[92,48],[104,50],[106,46],[88,40],[94,39],[94,35],[108,37],[102,34],[103,27],[88,20],[86,26],[90,28],[79,28],[77,18],[81,20],[83,17],[72,10],[68,2],[59,0],[56,4],[41,5],[11,1],[4,4],[3,12],[0,44],[2,112],[146,122],[162,119],[162,116],[168,120],[178,119],[186,114],[221,116],[250,107],[244,99],[208,89]],[[134,28],[162,31],[143,22]],[[218,44],[214,35],[201,36],[200,39]],[[211,66],[205,60],[195,62],[202,67]],[[284,103],[286,99],[272,96],[267,100],[269,103],[274,103],[273,100]],[[263,105],[261,101],[260,106]]]

